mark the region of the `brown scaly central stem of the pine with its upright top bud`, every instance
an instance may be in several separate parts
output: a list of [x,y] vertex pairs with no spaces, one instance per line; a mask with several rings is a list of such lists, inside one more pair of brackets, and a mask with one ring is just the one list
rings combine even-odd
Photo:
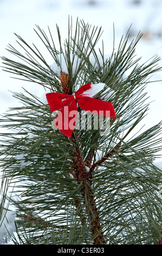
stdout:
[[[69,76],[63,72],[60,76],[60,80],[63,93],[69,94]],[[90,229],[94,237],[94,244],[101,245],[102,243],[105,243],[105,239],[103,238],[98,209],[95,206],[94,193],[92,191],[92,181],[89,180],[89,178],[92,178],[92,174],[88,173],[86,170],[86,164],[81,155],[82,149],[78,147],[74,132],[72,133],[72,142],[74,149],[74,159],[72,159],[74,173],[71,172],[71,174],[73,175],[74,179],[81,184],[83,203],[85,204],[86,212],[89,218],[89,223],[91,226]],[[92,161],[92,158],[93,156],[91,155],[90,159],[88,159],[88,165],[90,164],[90,161]],[[77,209],[79,209],[79,206],[77,206]],[[81,218],[81,222],[82,224],[84,223],[83,218]]]

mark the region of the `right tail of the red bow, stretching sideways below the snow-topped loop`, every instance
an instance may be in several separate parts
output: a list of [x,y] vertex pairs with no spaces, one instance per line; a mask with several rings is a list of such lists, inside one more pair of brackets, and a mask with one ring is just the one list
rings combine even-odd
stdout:
[[111,102],[77,95],[77,103],[85,111],[116,119],[115,110]]

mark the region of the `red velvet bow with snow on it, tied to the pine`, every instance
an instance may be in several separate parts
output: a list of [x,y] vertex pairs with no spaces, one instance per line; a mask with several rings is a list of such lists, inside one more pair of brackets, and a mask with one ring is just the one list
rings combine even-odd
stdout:
[[51,112],[59,110],[55,119],[55,126],[66,136],[72,135],[77,117],[77,106],[88,112],[97,113],[103,117],[116,118],[111,102],[88,97],[86,91],[92,88],[92,83],[87,83],[79,88],[74,95],[63,93],[47,93],[46,97]]

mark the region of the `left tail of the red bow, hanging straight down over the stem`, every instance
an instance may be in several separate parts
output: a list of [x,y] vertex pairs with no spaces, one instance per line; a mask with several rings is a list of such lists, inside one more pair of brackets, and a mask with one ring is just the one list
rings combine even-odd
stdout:
[[77,118],[77,106],[75,100],[71,100],[69,105],[64,106],[55,119],[55,126],[67,137],[72,136]]

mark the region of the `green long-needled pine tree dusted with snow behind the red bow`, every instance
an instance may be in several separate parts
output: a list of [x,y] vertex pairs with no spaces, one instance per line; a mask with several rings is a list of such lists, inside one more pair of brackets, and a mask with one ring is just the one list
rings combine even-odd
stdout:
[[[111,101],[117,118],[109,119],[104,136],[100,127],[86,126],[75,127],[67,137],[53,129],[54,117],[43,98],[27,89],[13,93],[22,106],[1,119],[2,127],[9,129],[2,134],[1,163],[15,191],[13,240],[15,244],[157,244],[161,170],[153,161],[161,150],[161,123],[135,135],[134,130],[147,114],[145,88],[150,76],[161,70],[159,58],[140,65],[135,47],[142,34],[130,41],[129,32],[118,50],[113,47],[105,58],[103,44],[96,52],[102,29],[79,20],[74,29],[72,24],[69,19],[63,42],[56,25],[59,48],[49,28],[47,35],[36,26],[44,52],[15,34],[22,52],[9,45],[9,53],[18,60],[2,57],[3,68],[18,79],[39,84],[45,94],[72,95],[84,84],[105,84],[94,98]],[[46,62],[47,54],[57,70]],[[88,123],[88,117],[85,120]]]

